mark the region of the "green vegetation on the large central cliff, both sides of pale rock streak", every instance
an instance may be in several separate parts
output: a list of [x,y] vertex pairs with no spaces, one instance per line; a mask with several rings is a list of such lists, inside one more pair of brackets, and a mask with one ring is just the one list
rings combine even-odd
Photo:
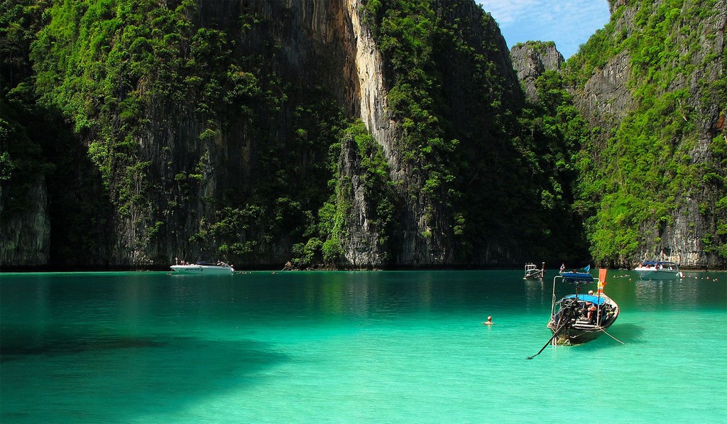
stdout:
[[[52,151],[68,151],[88,164],[76,192],[100,192],[97,212],[66,208],[52,220],[53,228],[84,215],[102,223],[97,248],[79,249],[87,260],[339,263],[355,222],[352,181],[340,173],[345,146],[356,151],[366,222],[384,265],[405,243],[402,211],[418,207],[421,236],[441,237],[453,252],[448,263],[581,250],[565,236],[577,225],[565,165],[572,142],[562,123],[549,121],[561,112],[523,115],[497,25],[471,1],[364,4],[411,169],[403,190],[381,147],[324,82],[331,76],[319,68],[331,68],[330,58],[298,55],[302,68],[289,68],[291,28],[254,5],[97,0],[36,8],[36,31],[20,54],[33,66],[27,90],[39,107],[60,111],[75,136],[33,161],[55,163]],[[8,15],[4,25],[25,17]],[[97,189],[84,191],[90,187]],[[66,236],[54,243],[90,242]]]

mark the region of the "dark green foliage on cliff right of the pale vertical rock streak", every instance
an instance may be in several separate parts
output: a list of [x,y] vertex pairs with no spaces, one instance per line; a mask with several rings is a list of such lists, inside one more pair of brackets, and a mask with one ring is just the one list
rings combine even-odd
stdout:
[[585,244],[572,219],[569,151],[580,140],[567,128],[575,109],[525,108],[498,65],[491,15],[471,21],[457,13],[469,2],[437,3],[368,1],[364,10],[387,63],[393,116],[403,122],[401,148],[422,170],[415,189],[453,217],[463,262],[491,246],[578,257]]

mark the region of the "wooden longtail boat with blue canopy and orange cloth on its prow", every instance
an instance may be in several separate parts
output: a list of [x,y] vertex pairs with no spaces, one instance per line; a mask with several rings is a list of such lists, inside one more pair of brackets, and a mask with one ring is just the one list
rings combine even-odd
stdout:
[[[588,268],[585,270],[588,271]],[[602,270],[605,271],[605,270]],[[605,273],[603,279],[605,280]],[[575,293],[555,300],[558,282],[574,284]],[[579,293],[582,284],[596,282],[597,292]],[[619,316],[619,305],[603,293],[605,282],[594,279],[589,272],[563,272],[553,278],[553,305],[547,328],[553,333],[554,344],[577,345],[603,335]]]

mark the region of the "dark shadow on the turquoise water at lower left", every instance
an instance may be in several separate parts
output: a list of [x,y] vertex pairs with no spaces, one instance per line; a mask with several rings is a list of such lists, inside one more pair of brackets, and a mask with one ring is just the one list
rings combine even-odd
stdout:
[[[2,417],[50,415],[64,422],[90,414],[103,421],[109,418],[105,411],[113,410],[113,420],[131,422],[251,387],[265,370],[289,361],[249,339],[48,336],[40,343],[3,337]],[[52,404],[26,400],[36,391],[63,395]]]

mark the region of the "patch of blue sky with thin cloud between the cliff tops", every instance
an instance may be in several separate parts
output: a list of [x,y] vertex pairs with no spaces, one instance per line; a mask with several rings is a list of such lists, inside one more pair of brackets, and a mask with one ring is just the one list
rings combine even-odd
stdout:
[[507,47],[525,41],[555,41],[569,58],[608,23],[608,0],[477,0],[497,20]]

